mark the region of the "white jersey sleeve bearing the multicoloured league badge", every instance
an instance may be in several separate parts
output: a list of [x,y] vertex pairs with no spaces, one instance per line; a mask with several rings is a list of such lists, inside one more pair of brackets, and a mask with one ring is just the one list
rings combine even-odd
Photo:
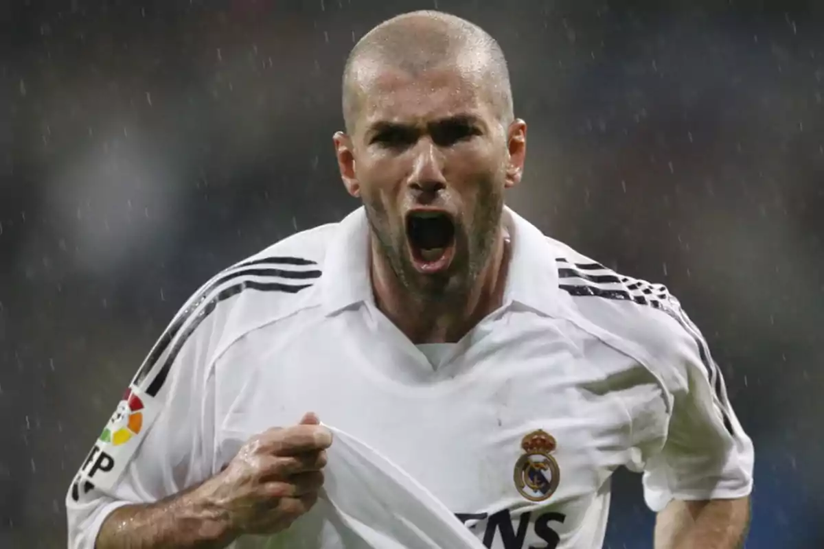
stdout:
[[214,386],[205,366],[213,328],[202,305],[193,300],[166,328],[74,477],[66,496],[70,549],[94,549],[115,509],[211,475]]

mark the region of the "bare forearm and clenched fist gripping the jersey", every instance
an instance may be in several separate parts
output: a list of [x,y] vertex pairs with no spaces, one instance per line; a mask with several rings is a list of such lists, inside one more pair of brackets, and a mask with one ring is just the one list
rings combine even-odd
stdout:
[[95,547],[218,549],[241,534],[279,533],[315,504],[331,442],[312,413],[300,425],[265,430],[198,486],[156,503],[115,509],[103,521]]

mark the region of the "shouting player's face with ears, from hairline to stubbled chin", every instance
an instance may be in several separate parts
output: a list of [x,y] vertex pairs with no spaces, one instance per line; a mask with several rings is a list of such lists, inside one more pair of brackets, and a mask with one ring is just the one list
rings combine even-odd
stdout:
[[408,291],[464,295],[492,252],[504,189],[520,179],[526,126],[502,126],[480,72],[371,68],[353,135],[335,138],[344,182]]

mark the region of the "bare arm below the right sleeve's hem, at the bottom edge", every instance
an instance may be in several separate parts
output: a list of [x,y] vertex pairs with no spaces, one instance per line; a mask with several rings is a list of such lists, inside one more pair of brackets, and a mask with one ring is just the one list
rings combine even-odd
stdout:
[[658,513],[655,549],[738,549],[747,537],[750,499],[674,500]]

